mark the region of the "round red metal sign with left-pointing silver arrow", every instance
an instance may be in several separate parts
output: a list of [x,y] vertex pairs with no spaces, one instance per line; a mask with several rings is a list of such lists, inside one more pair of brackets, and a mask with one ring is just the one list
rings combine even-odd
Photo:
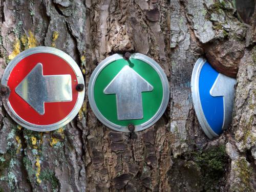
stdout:
[[2,86],[10,90],[4,106],[20,125],[33,131],[52,131],[69,123],[84,99],[82,73],[65,52],[51,47],[31,48],[7,66]]

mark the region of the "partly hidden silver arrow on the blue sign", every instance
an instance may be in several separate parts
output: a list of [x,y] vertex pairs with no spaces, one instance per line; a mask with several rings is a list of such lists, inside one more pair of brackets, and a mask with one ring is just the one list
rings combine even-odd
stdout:
[[219,73],[214,85],[210,89],[212,97],[223,96],[224,121],[222,129],[227,128],[232,119],[234,84],[236,82],[236,79]]

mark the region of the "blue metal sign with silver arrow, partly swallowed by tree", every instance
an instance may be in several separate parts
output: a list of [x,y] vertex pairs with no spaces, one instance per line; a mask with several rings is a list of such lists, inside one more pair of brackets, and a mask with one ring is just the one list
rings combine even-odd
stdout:
[[199,58],[191,77],[193,104],[198,121],[208,138],[219,136],[232,119],[236,79],[217,72]]

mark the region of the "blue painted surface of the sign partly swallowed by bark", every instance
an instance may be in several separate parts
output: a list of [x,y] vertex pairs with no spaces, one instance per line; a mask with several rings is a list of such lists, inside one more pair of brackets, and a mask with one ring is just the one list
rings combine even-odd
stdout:
[[224,120],[223,97],[212,97],[210,89],[213,86],[218,72],[205,62],[199,76],[199,95],[204,116],[212,131],[216,134],[222,133]]

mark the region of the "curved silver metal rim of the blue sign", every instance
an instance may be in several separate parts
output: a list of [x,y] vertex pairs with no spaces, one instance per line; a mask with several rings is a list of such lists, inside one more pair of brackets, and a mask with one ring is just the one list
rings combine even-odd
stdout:
[[203,108],[200,100],[200,94],[199,94],[199,77],[200,77],[201,69],[205,62],[206,60],[204,58],[199,58],[195,63],[192,76],[191,76],[191,92],[192,92],[194,109],[195,109],[198,121],[205,135],[207,135],[207,137],[212,139],[214,137],[218,137],[219,135],[216,134],[214,131],[212,131],[210,125],[208,124],[204,116],[204,112],[203,112]]

